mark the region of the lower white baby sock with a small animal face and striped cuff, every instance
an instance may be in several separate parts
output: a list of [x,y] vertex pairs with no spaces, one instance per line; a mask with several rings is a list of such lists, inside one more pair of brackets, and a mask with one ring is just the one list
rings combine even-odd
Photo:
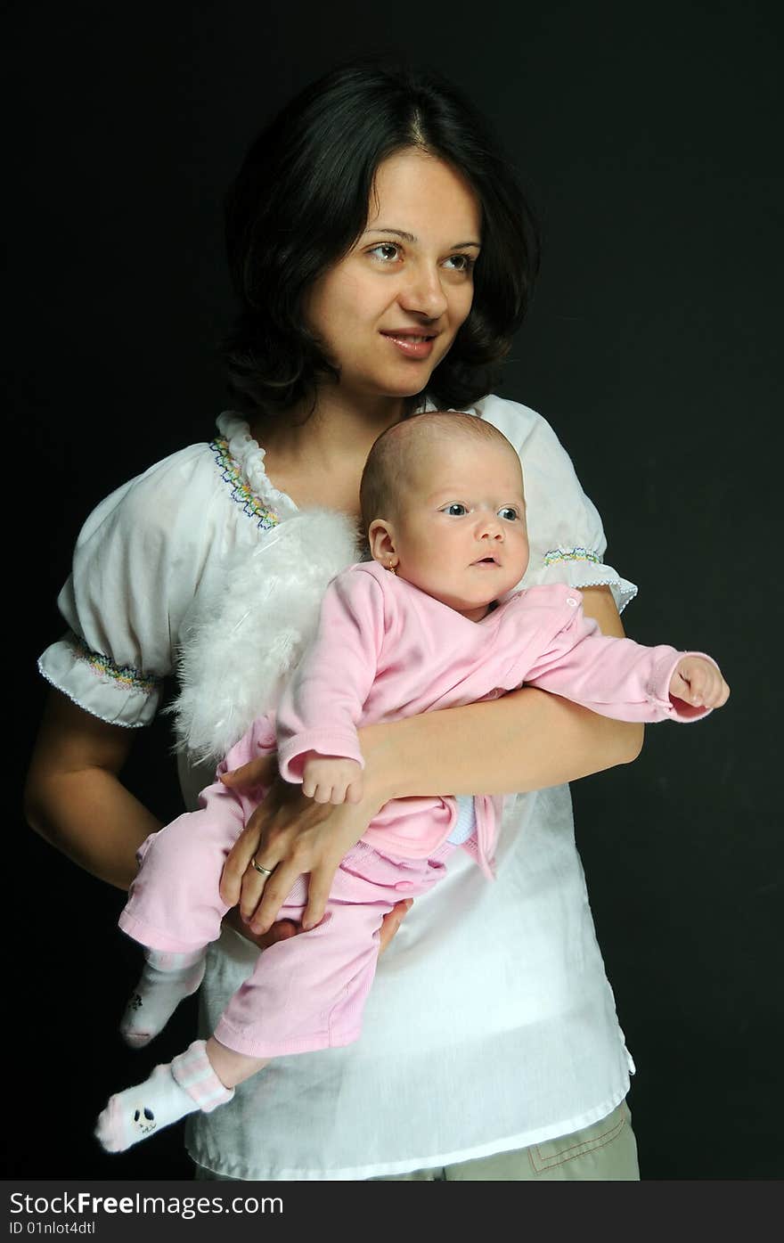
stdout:
[[194,1040],[185,1053],[155,1066],[145,1083],[109,1096],[94,1135],[107,1152],[124,1152],[198,1109],[211,1114],[232,1096],[234,1088],[225,1088],[212,1070],[205,1042]]

